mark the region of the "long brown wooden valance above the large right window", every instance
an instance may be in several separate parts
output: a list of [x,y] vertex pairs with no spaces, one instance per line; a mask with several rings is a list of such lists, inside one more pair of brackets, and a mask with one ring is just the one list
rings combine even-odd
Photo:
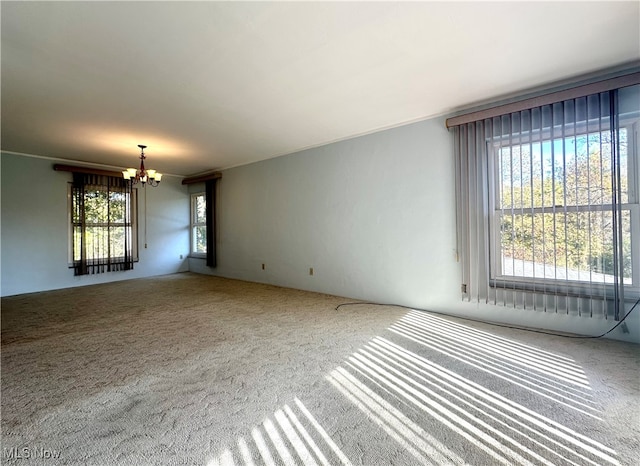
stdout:
[[549,94],[531,97],[530,99],[524,99],[510,104],[498,105],[497,107],[491,107],[485,110],[465,113],[464,115],[447,118],[446,125],[447,128],[451,128],[453,126],[460,126],[466,123],[473,123],[474,121],[485,120],[487,118],[493,118],[513,112],[520,112],[534,107],[541,107],[542,105],[550,105],[556,102],[562,102],[563,100],[577,99],[579,97],[585,97],[599,92],[612,91],[621,87],[634,86],[636,84],[640,84],[640,72],[573,87],[571,89],[565,89],[564,91],[551,92]]

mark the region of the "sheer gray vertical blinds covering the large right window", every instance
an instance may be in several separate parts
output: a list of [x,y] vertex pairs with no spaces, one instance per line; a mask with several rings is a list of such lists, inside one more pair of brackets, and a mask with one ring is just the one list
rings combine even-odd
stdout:
[[638,88],[453,127],[463,299],[618,319],[637,298]]

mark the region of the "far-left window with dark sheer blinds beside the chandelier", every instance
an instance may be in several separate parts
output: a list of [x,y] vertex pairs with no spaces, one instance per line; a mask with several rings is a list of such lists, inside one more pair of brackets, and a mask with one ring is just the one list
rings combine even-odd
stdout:
[[69,255],[75,275],[133,268],[137,260],[136,192],[121,178],[74,173]]

